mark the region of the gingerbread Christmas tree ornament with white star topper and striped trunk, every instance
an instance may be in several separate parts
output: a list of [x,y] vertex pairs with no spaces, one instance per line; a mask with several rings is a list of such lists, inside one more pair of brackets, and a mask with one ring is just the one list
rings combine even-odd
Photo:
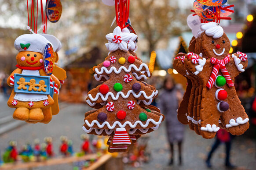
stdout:
[[141,135],[156,130],[164,116],[150,106],[158,91],[143,82],[150,71],[133,51],[137,35],[120,22],[117,25],[106,35],[108,57],[93,67],[95,80],[103,83],[88,92],[86,101],[97,110],[85,113],[83,129],[89,134],[110,136],[109,152],[126,152]]

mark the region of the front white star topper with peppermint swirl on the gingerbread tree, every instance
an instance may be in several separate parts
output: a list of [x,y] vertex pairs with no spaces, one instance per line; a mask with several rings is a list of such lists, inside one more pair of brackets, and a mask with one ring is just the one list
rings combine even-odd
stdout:
[[106,35],[106,39],[109,41],[109,43],[106,43],[105,45],[107,50],[112,52],[118,49],[127,52],[131,46],[128,44],[131,38],[131,33],[121,32],[121,28],[117,26],[113,33]]

